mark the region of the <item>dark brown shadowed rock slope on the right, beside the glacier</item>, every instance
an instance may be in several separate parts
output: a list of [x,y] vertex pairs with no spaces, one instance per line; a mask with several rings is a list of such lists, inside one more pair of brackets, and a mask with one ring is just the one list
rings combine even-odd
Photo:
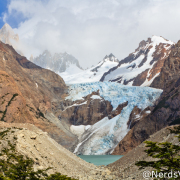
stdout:
[[156,102],[152,113],[140,121],[129,131],[115,148],[113,154],[126,154],[139,145],[151,134],[163,127],[180,123],[180,41],[171,49],[160,75],[152,83],[152,87],[162,88],[163,94]]

